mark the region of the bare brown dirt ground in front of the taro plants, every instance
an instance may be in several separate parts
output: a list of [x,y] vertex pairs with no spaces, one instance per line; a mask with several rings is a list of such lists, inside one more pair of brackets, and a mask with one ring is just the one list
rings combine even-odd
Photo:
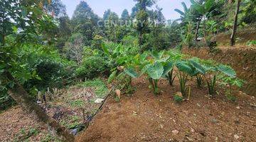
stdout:
[[210,99],[206,87],[191,85],[191,100],[176,104],[177,80],[174,87],[161,80],[156,97],[143,78],[133,83],[134,95],[109,97],[76,141],[256,141],[255,97],[239,92],[234,103],[219,89]]

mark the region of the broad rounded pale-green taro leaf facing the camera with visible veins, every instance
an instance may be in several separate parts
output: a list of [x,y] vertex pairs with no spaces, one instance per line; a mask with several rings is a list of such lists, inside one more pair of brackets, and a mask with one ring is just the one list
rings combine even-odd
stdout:
[[163,75],[164,67],[160,62],[155,62],[153,65],[149,65],[149,67],[147,67],[146,72],[152,79],[159,80],[159,78]]

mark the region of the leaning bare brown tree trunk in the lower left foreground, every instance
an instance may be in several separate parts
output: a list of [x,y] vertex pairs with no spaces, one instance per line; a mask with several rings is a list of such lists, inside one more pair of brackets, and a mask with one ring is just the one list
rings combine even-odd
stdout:
[[26,90],[23,89],[21,84],[18,83],[18,80],[16,80],[10,72],[6,72],[6,77],[8,80],[15,82],[14,87],[9,89],[8,93],[18,104],[21,105],[21,107],[35,114],[39,121],[43,121],[53,134],[57,134],[64,141],[75,141],[75,137],[67,129],[65,129],[65,127],[60,126],[55,119],[50,118],[50,116],[48,116],[46,112],[38,106],[38,104],[31,102],[31,100],[28,98],[28,93]]

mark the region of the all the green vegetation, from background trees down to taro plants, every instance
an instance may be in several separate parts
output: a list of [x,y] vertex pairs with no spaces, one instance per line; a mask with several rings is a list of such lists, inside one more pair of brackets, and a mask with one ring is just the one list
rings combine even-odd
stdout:
[[0,109],[14,100],[28,107],[38,91],[97,77],[130,93],[132,77],[146,75],[154,94],[159,94],[160,78],[172,85],[178,77],[184,97],[190,93],[188,77],[198,87],[205,80],[212,96],[216,82],[228,85],[230,95],[232,86],[241,87],[231,67],[180,51],[188,46],[212,52],[218,44],[213,36],[222,32],[232,33],[234,45],[237,28],[256,22],[254,0],[191,0],[190,7],[182,2],[175,21],[166,21],[157,1],[135,1],[132,13],[124,9],[120,18],[111,9],[101,18],[80,1],[69,18],[60,0],[1,0]]

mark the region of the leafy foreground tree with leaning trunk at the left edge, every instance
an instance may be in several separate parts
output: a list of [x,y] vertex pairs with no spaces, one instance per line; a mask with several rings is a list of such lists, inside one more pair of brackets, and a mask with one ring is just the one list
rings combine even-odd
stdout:
[[[36,47],[49,43],[47,32],[55,28],[53,18],[43,13],[40,1],[31,6],[27,1],[1,1],[0,9],[0,87],[8,89],[9,95],[24,109],[36,114],[50,130],[65,141],[74,141],[74,136],[28,97],[23,88],[24,80],[36,77],[21,65],[21,60],[28,60],[26,55],[18,55],[23,46]],[[34,5],[34,4],[33,4]],[[9,11],[9,12],[6,12]],[[19,29],[19,30],[18,30]],[[42,34],[43,33],[43,34]],[[43,41],[48,41],[43,43]]]

